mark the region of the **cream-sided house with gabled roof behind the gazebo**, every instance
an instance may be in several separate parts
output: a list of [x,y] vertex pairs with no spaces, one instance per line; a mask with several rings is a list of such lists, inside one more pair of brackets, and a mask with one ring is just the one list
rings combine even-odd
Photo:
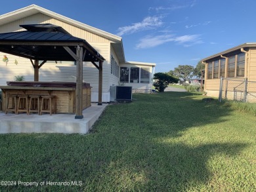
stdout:
[[[110,102],[110,86],[123,84],[133,86],[133,92],[148,92],[152,88],[152,77],[156,64],[127,62],[121,37],[77,22],[66,16],[30,5],[0,16],[0,33],[22,31],[22,24],[54,24],[71,35],[85,39],[106,60],[103,63],[102,102]],[[6,55],[9,62],[3,62]],[[14,81],[22,75],[25,81],[33,81],[30,60],[0,52],[0,85]],[[125,71],[125,72],[123,72]],[[39,70],[39,81],[75,81],[74,62],[47,62]],[[83,81],[90,83],[91,101],[98,102],[98,69],[91,62],[83,64]]]

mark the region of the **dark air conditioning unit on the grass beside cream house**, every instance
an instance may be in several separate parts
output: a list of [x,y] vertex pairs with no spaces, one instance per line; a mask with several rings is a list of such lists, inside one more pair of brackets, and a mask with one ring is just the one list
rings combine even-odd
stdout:
[[132,92],[132,86],[111,86],[110,102],[115,102],[115,100],[131,101],[133,99]]

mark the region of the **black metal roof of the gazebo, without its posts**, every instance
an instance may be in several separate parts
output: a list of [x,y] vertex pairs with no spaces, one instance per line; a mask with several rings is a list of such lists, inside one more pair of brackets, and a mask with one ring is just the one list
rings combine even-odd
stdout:
[[85,48],[83,62],[105,60],[85,39],[74,37],[53,24],[20,25],[26,31],[0,33],[0,51],[31,60],[75,61],[65,47],[76,52]]

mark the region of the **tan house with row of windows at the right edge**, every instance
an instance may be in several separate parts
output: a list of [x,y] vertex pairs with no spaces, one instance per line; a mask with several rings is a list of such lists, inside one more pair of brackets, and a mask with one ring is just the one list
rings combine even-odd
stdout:
[[205,64],[208,96],[256,101],[256,43],[244,43],[200,62]]

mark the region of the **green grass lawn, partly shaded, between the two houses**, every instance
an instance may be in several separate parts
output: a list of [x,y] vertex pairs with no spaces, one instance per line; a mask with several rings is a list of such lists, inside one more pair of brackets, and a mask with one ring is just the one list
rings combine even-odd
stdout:
[[255,116],[189,92],[133,98],[86,135],[0,135],[1,180],[45,182],[0,191],[256,190]]

